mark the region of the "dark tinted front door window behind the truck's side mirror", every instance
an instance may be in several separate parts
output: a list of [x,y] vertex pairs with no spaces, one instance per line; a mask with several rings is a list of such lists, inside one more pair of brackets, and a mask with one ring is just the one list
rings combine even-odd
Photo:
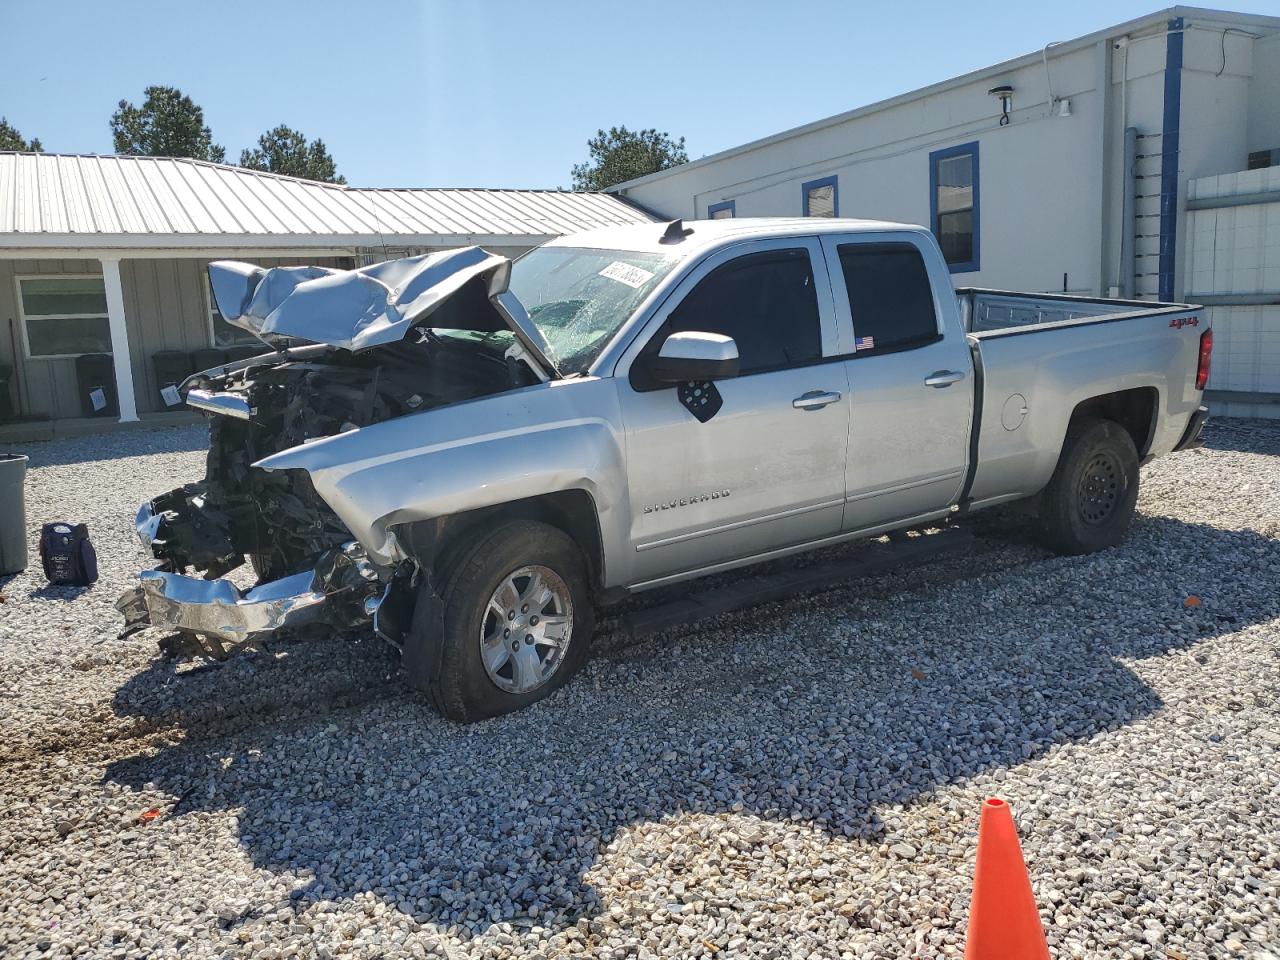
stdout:
[[654,348],[681,330],[732,337],[741,374],[820,360],[809,251],[749,253],[716,268],[671,312]]

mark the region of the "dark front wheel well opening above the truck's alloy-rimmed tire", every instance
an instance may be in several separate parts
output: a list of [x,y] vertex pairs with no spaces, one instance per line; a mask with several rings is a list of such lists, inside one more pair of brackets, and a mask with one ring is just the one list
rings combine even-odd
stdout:
[[436,572],[449,570],[457,556],[488,530],[511,520],[538,520],[566,532],[586,559],[591,582],[604,582],[604,549],[595,500],[586,490],[559,490],[493,507],[451,513],[408,524],[401,540],[417,562]]

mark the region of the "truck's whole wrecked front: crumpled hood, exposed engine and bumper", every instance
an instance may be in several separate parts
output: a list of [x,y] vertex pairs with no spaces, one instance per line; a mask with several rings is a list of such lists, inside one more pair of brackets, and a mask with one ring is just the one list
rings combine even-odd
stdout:
[[[440,260],[448,257],[454,257],[454,269],[443,271],[452,282],[448,300],[436,297],[428,314],[403,323],[394,294],[421,300],[422,291],[413,293],[415,276],[429,270],[439,275]],[[397,581],[402,588],[411,584],[412,562],[390,568],[374,564],[316,494],[306,471],[255,465],[319,438],[545,379],[495,310],[494,288],[503,284],[500,275],[495,283],[495,274],[503,265],[509,261],[477,248],[390,261],[364,271],[212,265],[215,296],[228,321],[253,329],[264,349],[273,342],[278,348],[196,374],[182,385],[188,406],[210,417],[206,472],[202,480],[155,497],[138,511],[138,535],[159,566],[145,571],[140,586],[116,603],[125,616],[124,634],[166,627],[177,635],[161,641],[161,649],[224,657],[285,627],[376,622],[378,607]],[[219,266],[227,270],[219,273]],[[379,273],[379,268],[398,270]],[[334,279],[335,274],[342,276]],[[388,274],[399,280],[396,287],[379,282]],[[314,296],[314,287],[328,284],[332,301],[335,284],[339,296],[352,292],[346,278],[353,275],[361,284],[369,284],[372,275],[381,300],[369,302],[367,291],[358,291],[366,302],[357,314],[364,321],[357,321],[357,334],[330,338],[348,346],[289,346],[302,333],[294,316],[284,317],[287,332],[264,329],[284,316],[285,306],[296,314],[292,296],[307,293],[308,287],[308,306],[323,314],[326,300]],[[347,289],[340,289],[343,283]],[[264,289],[270,296],[264,297]],[[379,323],[385,328],[388,320],[399,321],[396,337],[371,338],[372,346],[353,343],[358,330],[367,333]],[[252,580],[252,586],[223,579],[246,563],[253,576],[242,570],[237,580]],[[398,598],[401,608],[404,593]]]

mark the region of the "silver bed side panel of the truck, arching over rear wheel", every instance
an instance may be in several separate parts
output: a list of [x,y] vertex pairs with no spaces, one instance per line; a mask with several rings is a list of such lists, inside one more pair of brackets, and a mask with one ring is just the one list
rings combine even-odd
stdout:
[[1203,310],[1189,308],[970,334],[983,365],[973,506],[1043,489],[1071,412],[1092,397],[1155,388],[1156,424],[1139,454],[1169,453],[1201,403],[1196,367],[1207,328]]

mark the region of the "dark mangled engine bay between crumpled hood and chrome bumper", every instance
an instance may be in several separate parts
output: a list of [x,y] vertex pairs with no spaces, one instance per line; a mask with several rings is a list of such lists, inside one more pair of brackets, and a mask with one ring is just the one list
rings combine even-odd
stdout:
[[294,351],[188,381],[189,390],[243,398],[252,416],[212,416],[205,480],[152,500],[165,516],[163,535],[152,540],[156,558],[175,571],[195,567],[211,577],[246,558],[264,580],[296,572],[351,534],[315,495],[306,472],[255,470],[255,462],[320,436],[529,381],[521,367],[481,346],[431,330],[415,339],[358,355]]

